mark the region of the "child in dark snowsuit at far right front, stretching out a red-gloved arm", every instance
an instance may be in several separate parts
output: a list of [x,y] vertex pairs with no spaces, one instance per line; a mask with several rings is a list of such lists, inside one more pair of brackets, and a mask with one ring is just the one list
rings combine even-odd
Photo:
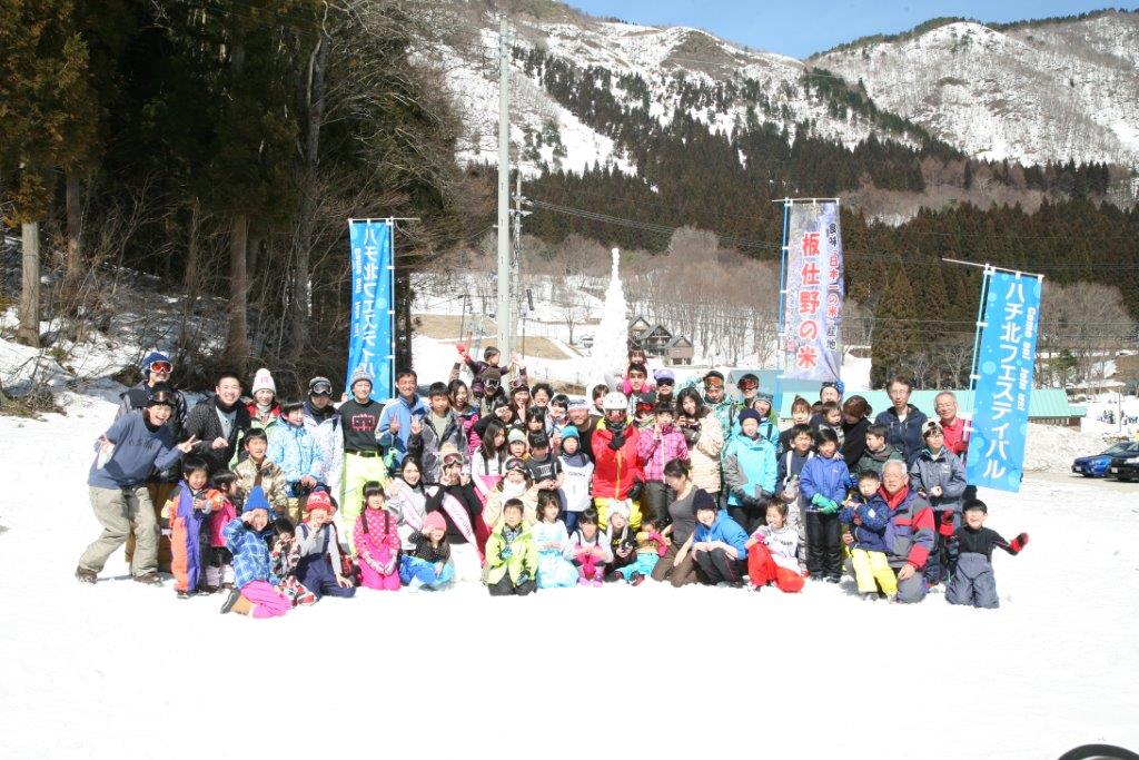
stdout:
[[997,531],[984,528],[989,507],[980,499],[966,501],[964,513],[965,525],[953,533],[958,547],[957,569],[945,589],[945,600],[995,610],[1000,599],[993,577],[993,547],[1016,556],[1029,544],[1029,534],[1021,533],[1009,542]]

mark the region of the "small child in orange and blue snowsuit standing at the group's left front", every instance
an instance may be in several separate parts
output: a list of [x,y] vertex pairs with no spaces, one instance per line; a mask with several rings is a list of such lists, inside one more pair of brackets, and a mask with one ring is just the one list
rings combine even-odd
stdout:
[[211,499],[210,467],[200,459],[189,459],[182,466],[182,481],[162,509],[170,523],[170,570],[174,574],[174,593],[179,599],[196,594],[205,580],[210,546],[210,513],[221,506]]

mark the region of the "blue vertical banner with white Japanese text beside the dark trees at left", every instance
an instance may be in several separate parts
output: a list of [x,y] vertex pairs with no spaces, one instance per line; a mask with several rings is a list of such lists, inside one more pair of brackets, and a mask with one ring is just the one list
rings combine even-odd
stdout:
[[386,400],[394,393],[392,363],[395,361],[395,301],[392,223],[385,220],[349,220],[352,246],[352,322],[349,326],[349,368],[363,367],[372,376],[371,398]]

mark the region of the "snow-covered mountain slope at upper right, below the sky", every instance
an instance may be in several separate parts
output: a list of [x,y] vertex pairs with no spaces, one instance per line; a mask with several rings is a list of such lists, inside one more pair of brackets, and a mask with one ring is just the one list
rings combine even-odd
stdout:
[[956,22],[812,63],[978,158],[1139,164],[1139,14]]

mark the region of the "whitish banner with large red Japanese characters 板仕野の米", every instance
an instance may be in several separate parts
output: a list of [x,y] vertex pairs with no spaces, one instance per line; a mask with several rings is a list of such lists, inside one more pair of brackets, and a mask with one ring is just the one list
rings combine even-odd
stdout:
[[845,295],[838,203],[792,203],[787,211],[782,376],[837,381]]

